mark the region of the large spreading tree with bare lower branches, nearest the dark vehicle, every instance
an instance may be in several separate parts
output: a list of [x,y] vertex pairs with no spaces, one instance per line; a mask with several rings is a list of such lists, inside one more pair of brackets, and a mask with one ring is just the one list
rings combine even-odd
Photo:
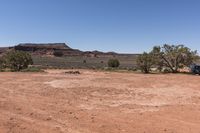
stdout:
[[162,70],[162,67],[176,73],[178,69],[184,66],[190,66],[197,59],[197,51],[192,51],[184,45],[168,45],[156,46],[153,48],[154,65]]

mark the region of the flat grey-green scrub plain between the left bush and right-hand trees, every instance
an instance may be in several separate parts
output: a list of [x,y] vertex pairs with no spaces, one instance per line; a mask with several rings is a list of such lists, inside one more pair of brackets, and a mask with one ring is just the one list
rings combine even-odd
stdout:
[[[40,55],[33,55],[32,56],[34,65],[41,65],[43,68],[87,68],[87,69],[103,69],[104,67],[108,66],[108,60],[110,57],[86,57],[86,56],[64,56],[60,58],[48,57],[48,56],[40,56]],[[118,60],[120,60],[119,69],[123,68],[132,68],[136,66],[136,58],[137,55],[128,55],[116,56]],[[86,63],[83,61],[86,60]],[[47,66],[48,65],[48,66]]]

